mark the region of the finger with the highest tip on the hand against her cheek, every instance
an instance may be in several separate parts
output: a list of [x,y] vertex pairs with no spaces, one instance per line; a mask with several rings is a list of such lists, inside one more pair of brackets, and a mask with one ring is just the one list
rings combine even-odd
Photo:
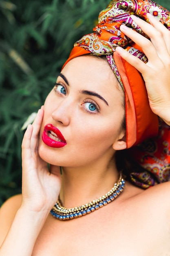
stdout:
[[33,121],[33,133],[31,136],[31,149],[38,150],[39,132],[42,124],[44,111],[42,109],[38,110],[37,116]]

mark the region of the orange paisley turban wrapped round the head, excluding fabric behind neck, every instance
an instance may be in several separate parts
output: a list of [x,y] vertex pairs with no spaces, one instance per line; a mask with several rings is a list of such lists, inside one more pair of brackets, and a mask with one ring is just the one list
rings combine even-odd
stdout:
[[111,1],[108,7],[99,13],[99,23],[93,28],[93,33],[83,36],[74,44],[68,60],[64,63],[65,66],[71,59],[84,54],[106,55],[125,93],[127,148],[157,136],[159,129],[158,117],[150,109],[141,73],[115,52],[116,47],[121,46],[147,63],[148,59],[141,47],[119,29],[121,24],[125,24],[147,37],[130,17],[134,14],[150,23],[147,13],[151,13],[170,29],[170,12],[151,0]]

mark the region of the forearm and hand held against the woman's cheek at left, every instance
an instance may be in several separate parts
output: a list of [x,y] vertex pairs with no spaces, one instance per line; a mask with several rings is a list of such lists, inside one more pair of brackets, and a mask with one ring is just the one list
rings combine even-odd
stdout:
[[53,166],[49,172],[47,163],[38,154],[42,118],[41,109],[33,125],[28,126],[23,138],[22,203],[0,247],[0,256],[32,255],[38,234],[60,192],[60,168]]

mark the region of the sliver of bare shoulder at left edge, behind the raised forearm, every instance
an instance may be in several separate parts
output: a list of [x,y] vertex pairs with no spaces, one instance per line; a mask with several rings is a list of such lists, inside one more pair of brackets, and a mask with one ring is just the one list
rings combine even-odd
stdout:
[[15,214],[20,208],[22,202],[22,195],[14,195],[9,198],[0,208],[0,245],[3,243],[9,228],[15,218]]

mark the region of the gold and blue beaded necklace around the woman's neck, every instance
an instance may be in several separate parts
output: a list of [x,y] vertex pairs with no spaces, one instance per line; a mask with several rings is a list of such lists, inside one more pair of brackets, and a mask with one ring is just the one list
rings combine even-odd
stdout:
[[124,185],[125,181],[122,177],[122,173],[120,173],[119,180],[114,184],[113,188],[101,198],[73,208],[63,207],[61,205],[60,198],[58,198],[58,201],[53,206],[50,213],[53,217],[59,220],[71,220],[73,218],[82,217],[115,200],[115,198],[117,198],[117,196],[123,191]]

